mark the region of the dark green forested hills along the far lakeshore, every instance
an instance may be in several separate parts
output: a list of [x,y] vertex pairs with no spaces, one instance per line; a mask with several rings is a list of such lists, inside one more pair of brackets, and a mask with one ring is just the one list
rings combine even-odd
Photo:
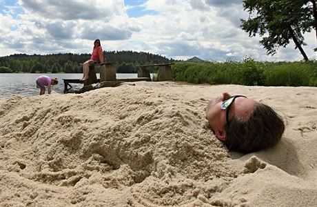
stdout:
[[[133,73],[138,67],[152,63],[170,63],[173,59],[167,59],[161,55],[154,55],[149,52],[133,51],[103,51],[105,62],[116,63],[116,72]],[[52,55],[25,55],[16,54],[0,57],[0,73],[10,72],[82,72],[81,63],[90,59],[90,54],[52,54]],[[154,72],[155,68],[151,68]],[[99,72],[99,71],[96,71]]]

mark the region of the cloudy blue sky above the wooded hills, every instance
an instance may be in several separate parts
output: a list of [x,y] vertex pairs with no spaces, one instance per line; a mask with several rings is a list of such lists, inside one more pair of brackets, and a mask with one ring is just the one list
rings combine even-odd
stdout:
[[[167,58],[210,61],[300,61],[293,41],[267,55],[260,37],[241,29],[242,0],[0,0],[0,56],[150,52]],[[317,59],[315,31],[304,50]]]

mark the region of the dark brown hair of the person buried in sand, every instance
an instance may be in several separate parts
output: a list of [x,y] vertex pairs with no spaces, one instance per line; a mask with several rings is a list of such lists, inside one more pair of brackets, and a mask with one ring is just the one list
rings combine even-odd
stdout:
[[283,119],[271,107],[256,103],[249,119],[232,117],[225,145],[240,152],[262,150],[276,145],[284,130]]

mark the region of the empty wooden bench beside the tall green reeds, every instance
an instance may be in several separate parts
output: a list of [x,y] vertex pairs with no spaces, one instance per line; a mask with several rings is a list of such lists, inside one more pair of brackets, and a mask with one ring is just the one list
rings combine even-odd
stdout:
[[148,77],[150,78],[150,70],[148,67],[153,67],[153,66],[159,66],[159,70],[157,73],[158,81],[172,81],[172,68],[171,66],[174,63],[159,63],[159,64],[152,64],[152,65],[143,65],[143,66],[138,66],[138,77]]

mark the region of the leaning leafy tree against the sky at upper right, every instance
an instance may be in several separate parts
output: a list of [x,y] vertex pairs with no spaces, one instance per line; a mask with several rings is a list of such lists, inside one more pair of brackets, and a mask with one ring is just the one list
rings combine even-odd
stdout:
[[[303,34],[313,28],[316,30],[316,0],[244,0],[243,8],[249,12],[249,18],[241,19],[241,27],[249,32],[249,37],[256,33],[266,36],[260,43],[267,55],[276,54],[280,46],[287,46],[292,39],[295,49],[308,60],[302,48],[306,45]],[[256,17],[252,18],[254,14]]]

